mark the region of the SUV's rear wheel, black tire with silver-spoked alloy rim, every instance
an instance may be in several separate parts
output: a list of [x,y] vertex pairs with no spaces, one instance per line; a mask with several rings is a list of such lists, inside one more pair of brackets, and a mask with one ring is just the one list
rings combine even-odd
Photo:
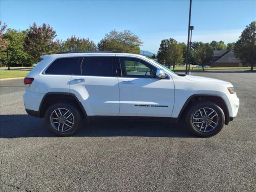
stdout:
[[53,104],[46,110],[44,119],[48,130],[57,136],[70,136],[81,124],[79,111],[68,103]]

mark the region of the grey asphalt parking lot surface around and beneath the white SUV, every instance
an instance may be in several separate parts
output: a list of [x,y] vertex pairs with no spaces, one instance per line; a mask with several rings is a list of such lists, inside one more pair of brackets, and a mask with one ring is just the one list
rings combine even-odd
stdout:
[[139,121],[56,137],[26,114],[22,80],[1,81],[0,191],[256,191],[256,73],[193,75],[232,82],[240,98],[238,117],[211,138]]

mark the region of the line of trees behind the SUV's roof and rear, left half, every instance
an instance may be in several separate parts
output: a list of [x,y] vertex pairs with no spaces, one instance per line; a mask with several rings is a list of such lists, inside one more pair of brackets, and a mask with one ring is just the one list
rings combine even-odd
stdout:
[[7,25],[0,21],[0,66],[32,66],[41,60],[41,55],[66,51],[121,51],[140,54],[143,43],[130,30],[112,30],[97,45],[89,38],[71,36],[66,40],[55,40],[56,36],[56,31],[45,23],[38,26],[34,22],[27,30],[20,31],[7,29]]

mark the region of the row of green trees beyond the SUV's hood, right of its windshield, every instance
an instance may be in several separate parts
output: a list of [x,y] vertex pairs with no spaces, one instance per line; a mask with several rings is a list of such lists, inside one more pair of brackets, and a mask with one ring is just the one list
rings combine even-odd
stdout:
[[[210,64],[213,59],[214,50],[234,50],[234,54],[243,64],[249,64],[253,70],[256,64],[256,22],[246,26],[237,42],[225,44],[223,41],[212,41],[210,43],[192,42],[190,52],[190,64],[201,65]],[[178,43],[175,39],[164,39],[161,41],[158,50],[158,62],[173,67],[186,63],[187,45]]]

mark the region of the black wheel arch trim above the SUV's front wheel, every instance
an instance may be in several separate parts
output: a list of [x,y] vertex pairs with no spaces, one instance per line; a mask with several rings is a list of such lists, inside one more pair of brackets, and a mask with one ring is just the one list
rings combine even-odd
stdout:
[[225,124],[227,125],[230,121],[230,115],[228,111],[228,106],[226,104],[225,99],[221,95],[212,95],[212,94],[193,94],[191,95],[184,105],[182,106],[182,109],[180,110],[180,113],[178,115],[178,119],[180,119],[187,111],[189,106],[191,106],[194,102],[198,101],[211,101],[216,103],[220,108],[222,108],[225,116]]

